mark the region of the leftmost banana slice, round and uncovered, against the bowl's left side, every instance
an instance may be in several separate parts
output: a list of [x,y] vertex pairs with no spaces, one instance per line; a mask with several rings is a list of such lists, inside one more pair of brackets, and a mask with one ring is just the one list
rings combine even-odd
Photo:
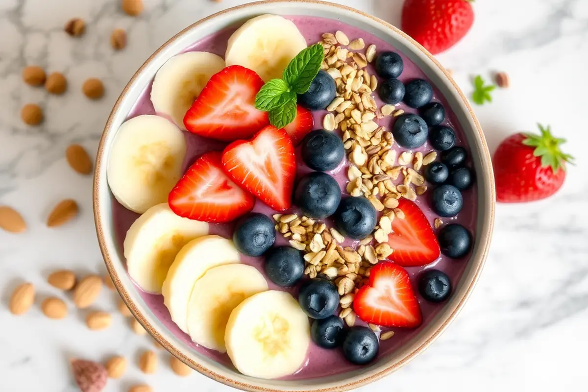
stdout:
[[185,155],[183,133],[168,120],[142,115],[124,122],[116,133],[106,169],[112,194],[138,213],[166,202],[182,176]]

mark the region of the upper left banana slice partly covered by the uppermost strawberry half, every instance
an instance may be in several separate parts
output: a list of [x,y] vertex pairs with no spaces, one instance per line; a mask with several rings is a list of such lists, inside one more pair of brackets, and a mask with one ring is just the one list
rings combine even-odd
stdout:
[[169,116],[181,129],[183,118],[212,75],[225,61],[208,52],[186,52],[165,62],[153,79],[151,102],[158,113]]

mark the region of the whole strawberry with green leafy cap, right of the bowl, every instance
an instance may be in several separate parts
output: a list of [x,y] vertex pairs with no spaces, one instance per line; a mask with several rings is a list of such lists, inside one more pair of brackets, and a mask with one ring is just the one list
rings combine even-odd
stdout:
[[566,140],[554,138],[549,126],[539,129],[540,135],[516,133],[498,146],[492,160],[498,202],[545,199],[562,187],[573,159],[559,148]]

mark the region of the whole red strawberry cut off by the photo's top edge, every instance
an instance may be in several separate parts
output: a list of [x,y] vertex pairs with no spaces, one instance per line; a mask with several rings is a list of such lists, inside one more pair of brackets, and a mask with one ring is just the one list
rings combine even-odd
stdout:
[[451,48],[474,22],[473,0],[406,0],[402,29],[433,55]]

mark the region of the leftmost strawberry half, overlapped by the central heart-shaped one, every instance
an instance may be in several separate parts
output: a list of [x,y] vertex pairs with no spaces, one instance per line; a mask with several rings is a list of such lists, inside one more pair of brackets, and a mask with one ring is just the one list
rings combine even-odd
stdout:
[[169,193],[176,215],[203,222],[230,222],[249,212],[255,197],[236,185],[222,169],[222,153],[202,155]]

